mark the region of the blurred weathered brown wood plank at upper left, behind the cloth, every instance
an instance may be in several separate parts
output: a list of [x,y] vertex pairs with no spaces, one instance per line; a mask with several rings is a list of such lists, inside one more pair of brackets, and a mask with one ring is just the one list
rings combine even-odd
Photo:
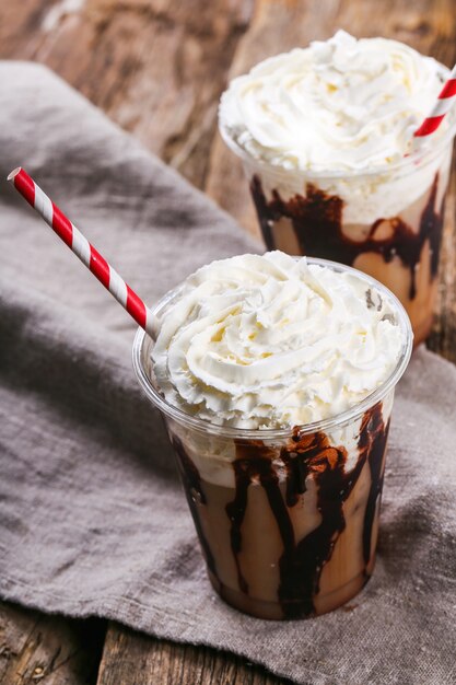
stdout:
[[[0,3],[0,57],[48,65],[195,185],[253,0]],[[60,11],[59,11],[60,10]]]

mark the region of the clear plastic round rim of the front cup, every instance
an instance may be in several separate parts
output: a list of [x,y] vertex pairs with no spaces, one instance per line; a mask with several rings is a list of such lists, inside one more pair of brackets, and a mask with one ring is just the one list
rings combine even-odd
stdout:
[[[300,259],[303,257],[294,257],[295,259]],[[138,379],[138,382],[145,393],[149,400],[157,407],[166,418],[172,418],[179,422],[180,425],[186,426],[187,428],[191,428],[192,430],[197,430],[199,432],[217,434],[222,438],[235,439],[237,441],[246,440],[271,440],[271,439],[283,439],[290,438],[294,431],[299,430],[301,436],[314,433],[318,431],[328,431],[334,428],[341,428],[347,423],[350,423],[359,418],[362,415],[373,407],[378,402],[382,402],[390,391],[393,391],[402,376],[404,372],[407,369],[407,365],[410,361],[412,346],[413,346],[413,332],[411,328],[410,320],[406,310],[404,309],[400,301],[397,297],[383,283],[377,281],[375,278],[355,269],[353,267],[339,264],[337,262],[330,262],[329,259],[320,259],[315,257],[305,257],[308,264],[316,264],[323,267],[329,267],[338,272],[349,272],[355,276],[356,278],[363,280],[366,286],[374,287],[379,291],[382,295],[384,295],[390,303],[391,307],[397,312],[398,325],[400,326],[404,340],[402,348],[400,350],[400,355],[397,361],[395,369],[391,371],[389,376],[375,388],[372,393],[370,393],[360,403],[342,411],[332,417],[321,419],[319,421],[313,421],[312,423],[303,423],[292,427],[285,428],[261,428],[261,429],[247,429],[247,428],[235,428],[232,426],[219,426],[217,423],[212,423],[206,419],[197,418],[189,414],[186,414],[178,407],[169,404],[155,387],[153,386],[148,373],[145,372],[144,365],[142,363],[142,350],[144,345],[147,345],[150,340],[150,336],[143,330],[143,328],[138,328],[132,347],[132,365]],[[169,290],[151,310],[152,316],[159,313],[164,306],[166,306],[180,291],[182,285],[177,286],[173,290]]]

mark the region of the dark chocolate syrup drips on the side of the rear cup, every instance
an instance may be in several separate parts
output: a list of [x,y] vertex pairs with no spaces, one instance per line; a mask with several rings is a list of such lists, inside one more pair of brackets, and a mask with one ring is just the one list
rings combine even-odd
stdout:
[[[417,294],[416,268],[426,240],[429,240],[432,255],[432,280],[437,275],[444,214],[444,206],[440,213],[435,207],[437,185],[439,174],[435,175],[429,200],[421,214],[418,233],[414,233],[399,217],[381,218],[372,224],[367,237],[360,242],[352,241],[342,233],[344,202],[337,195],[327,195],[315,185],[307,183],[306,197],[296,194],[285,201],[278,190],[272,190],[272,197],[268,201],[257,175],[250,182],[250,190],[268,249],[276,248],[271,231],[273,222],[287,217],[293,225],[303,255],[325,257],[349,266],[353,265],[359,255],[369,252],[382,255],[387,264],[397,255],[404,266],[410,270],[409,297],[413,300]],[[376,240],[375,233],[384,221],[387,221],[393,229],[391,235]]]

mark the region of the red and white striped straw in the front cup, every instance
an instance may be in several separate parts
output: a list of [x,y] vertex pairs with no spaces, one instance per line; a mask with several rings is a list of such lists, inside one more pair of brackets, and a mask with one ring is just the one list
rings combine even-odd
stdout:
[[92,271],[103,286],[127,310],[135,321],[153,335],[153,321],[144,302],[131,290],[115,269],[106,262],[87,239],[82,235],[63,212],[43,193],[42,188],[21,167],[8,176],[15,189],[43,217],[59,237],[70,247],[81,262]]

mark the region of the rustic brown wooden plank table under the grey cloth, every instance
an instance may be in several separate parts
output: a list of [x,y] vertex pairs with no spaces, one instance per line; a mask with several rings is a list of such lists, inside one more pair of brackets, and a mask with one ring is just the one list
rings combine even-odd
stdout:
[[[452,66],[453,0],[21,0],[0,4],[0,58],[48,65],[143,144],[257,232],[239,164],[217,133],[227,80],[342,27],[404,40]],[[4,86],[4,84],[1,84]],[[430,347],[456,362],[455,183]],[[237,657],[101,619],[0,604],[0,683],[272,685]]]

